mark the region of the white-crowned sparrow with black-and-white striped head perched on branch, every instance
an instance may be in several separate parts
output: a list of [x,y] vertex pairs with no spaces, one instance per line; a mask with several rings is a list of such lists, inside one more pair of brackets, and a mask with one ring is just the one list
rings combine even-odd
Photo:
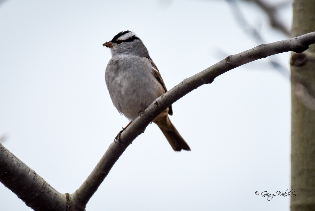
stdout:
[[[146,46],[134,32],[121,31],[103,46],[110,48],[112,55],[105,70],[109,95],[113,105],[130,120],[130,124],[141,111],[167,92],[166,86]],[[161,129],[174,151],[191,151],[169,120],[172,114],[171,105],[152,122]]]

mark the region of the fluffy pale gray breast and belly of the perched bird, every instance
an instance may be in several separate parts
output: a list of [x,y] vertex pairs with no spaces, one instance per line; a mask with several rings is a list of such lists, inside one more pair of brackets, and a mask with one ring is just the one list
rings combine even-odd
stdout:
[[114,106],[132,121],[140,110],[165,93],[145,57],[113,57],[106,67],[105,80]]

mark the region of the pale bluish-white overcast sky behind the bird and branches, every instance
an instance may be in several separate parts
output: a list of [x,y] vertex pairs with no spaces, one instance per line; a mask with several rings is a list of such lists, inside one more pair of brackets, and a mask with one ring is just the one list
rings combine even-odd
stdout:
[[[266,42],[285,39],[242,4]],[[291,9],[283,11],[288,25]],[[74,192],[121,127],[104,80],[102,43],[134,31],[168,89],[255,47],[225,1],[22,1],[0,4],[3,145],[59,192]],[[226,55],[227,56],[227,55]],[[289,69],[289,53],[277,55]],[[151,124],[130,145],[87,210],[289,210],[289,80],[263,59],[231,70],[173,106],[191,152],[175,153]],[[0,183],[1,210],[31,210]],[[298,196],[297,196],[298,197]]]

